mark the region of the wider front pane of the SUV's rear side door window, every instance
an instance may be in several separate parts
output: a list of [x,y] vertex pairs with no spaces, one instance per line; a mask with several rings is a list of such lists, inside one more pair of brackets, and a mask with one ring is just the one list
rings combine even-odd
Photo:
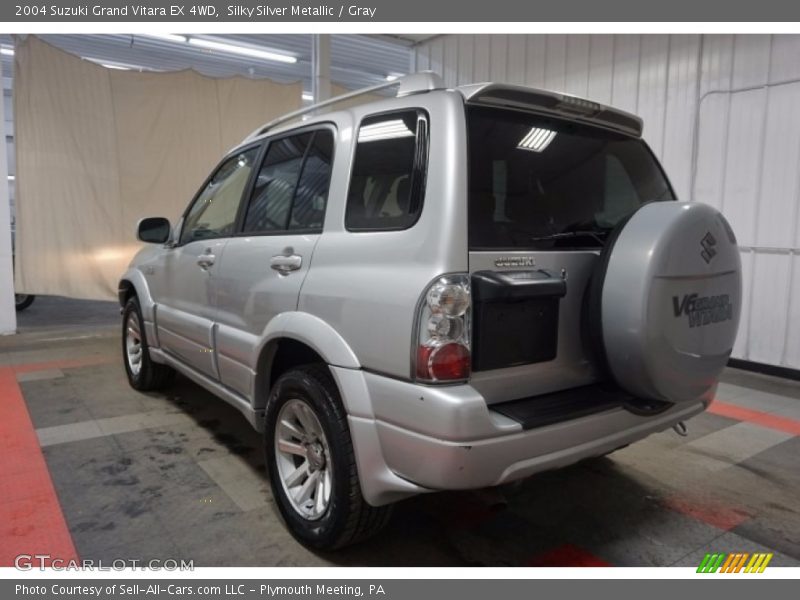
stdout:
[[270,142],[244,219],[245,233],[286,229],[311,133]]

